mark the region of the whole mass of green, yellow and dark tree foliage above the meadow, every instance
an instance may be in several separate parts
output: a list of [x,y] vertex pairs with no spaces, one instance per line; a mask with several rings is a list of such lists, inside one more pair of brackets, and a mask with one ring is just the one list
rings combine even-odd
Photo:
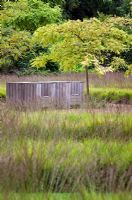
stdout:
[[84,60],[128,71],[131,14],[131,0],[2,0],[0,71],[82,71]]

